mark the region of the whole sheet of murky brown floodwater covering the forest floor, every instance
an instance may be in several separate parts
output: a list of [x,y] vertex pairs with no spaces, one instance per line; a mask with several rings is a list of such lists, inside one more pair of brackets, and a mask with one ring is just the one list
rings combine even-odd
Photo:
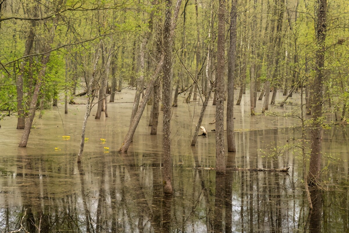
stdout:
[[[237,152],[227,153],[227,167],[290,167],[289,172],[228,169],[216,175],[203,169],[215,167],[214,124],[209,124],[215,107],[209,103],[202,123],[208,137],[199,137],[192,147],[201,105],[179,97],[171,121],[174,194],[164,196],[161,112],[158,135],[149,135],[149,106],[128,153],[118,153],[133,94],[118,93],[116,103],[108,104],[108,118],[90,116],[81,165],[76,155],[86,105],[69,105],[68,114],[60,104],[46,110],[35,119],[27,148],[17,147],[16,118],[1,122],[0,232],[349,232],[347,126],[324,131],[324,182],[312,191],[309,214],[297,118],[251,117],[249,95],[244,95],[235,107]],[[278,93],[276,102],[282,98]],[[299,102],[299,95],[291,101]],[[256,111],[261,108],[257,101]],[[290,107],[270,109],[283,115]]]

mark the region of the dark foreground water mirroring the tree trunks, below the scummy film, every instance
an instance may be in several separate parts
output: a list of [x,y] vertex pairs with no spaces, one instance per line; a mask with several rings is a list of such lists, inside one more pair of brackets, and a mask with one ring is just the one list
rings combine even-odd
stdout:
[[[174,151],[173,196],[162,193],[161,154],[91,155],[76,165],[73,155],[19,150],[15,159],[1,158],[0,231],[22,222],[28,232],[347,232],[348,162],[329,164],[328,187],[311,191],[308,216],[302,159],[293,151],[266,156],[259,150],[285,144],[282,135],[291,133],[297,131],[238,133],[242,153],[228,154],[225,175],[203,169],[214,167],[207,155],[214,148],[199,143],[186,154]],[[347,150],[331,137],[324,146]],[[229,170],[287,165],[288,174]]]

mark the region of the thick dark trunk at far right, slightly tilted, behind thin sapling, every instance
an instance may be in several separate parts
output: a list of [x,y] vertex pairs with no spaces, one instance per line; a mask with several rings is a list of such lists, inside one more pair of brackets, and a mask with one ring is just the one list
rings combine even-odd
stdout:
[[322,144],[322,79],[326,49],[326,11],[327,0],[317,0],[317,22],[315,25],[316,45],[315,79],[313,82],[313,125],[311,130],[311,156],[309,165],[309,184],[318,184],[320,179]]

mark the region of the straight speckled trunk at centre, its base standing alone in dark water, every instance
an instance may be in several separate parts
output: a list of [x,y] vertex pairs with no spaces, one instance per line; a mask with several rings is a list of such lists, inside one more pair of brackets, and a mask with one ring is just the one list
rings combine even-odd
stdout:
[[165,23],[164,23],[164,66],[163,66],[163,185],[164,193],[172,194],[172,184],[171,184],[171,139],[170,139],[170,119],[171,119],[171,41],[170,41],[170,30],[171,30],[171,0],[166,1],[166,13],[165,13]]

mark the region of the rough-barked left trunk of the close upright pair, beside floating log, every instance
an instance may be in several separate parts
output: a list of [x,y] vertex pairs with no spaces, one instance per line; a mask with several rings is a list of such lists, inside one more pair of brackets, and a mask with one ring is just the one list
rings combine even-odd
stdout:
[[216,172],[225,173],[224,150],[224,37],[225,37],[225,0],[219,1],[218,38],[217,38],[217,76],[216,76]]

